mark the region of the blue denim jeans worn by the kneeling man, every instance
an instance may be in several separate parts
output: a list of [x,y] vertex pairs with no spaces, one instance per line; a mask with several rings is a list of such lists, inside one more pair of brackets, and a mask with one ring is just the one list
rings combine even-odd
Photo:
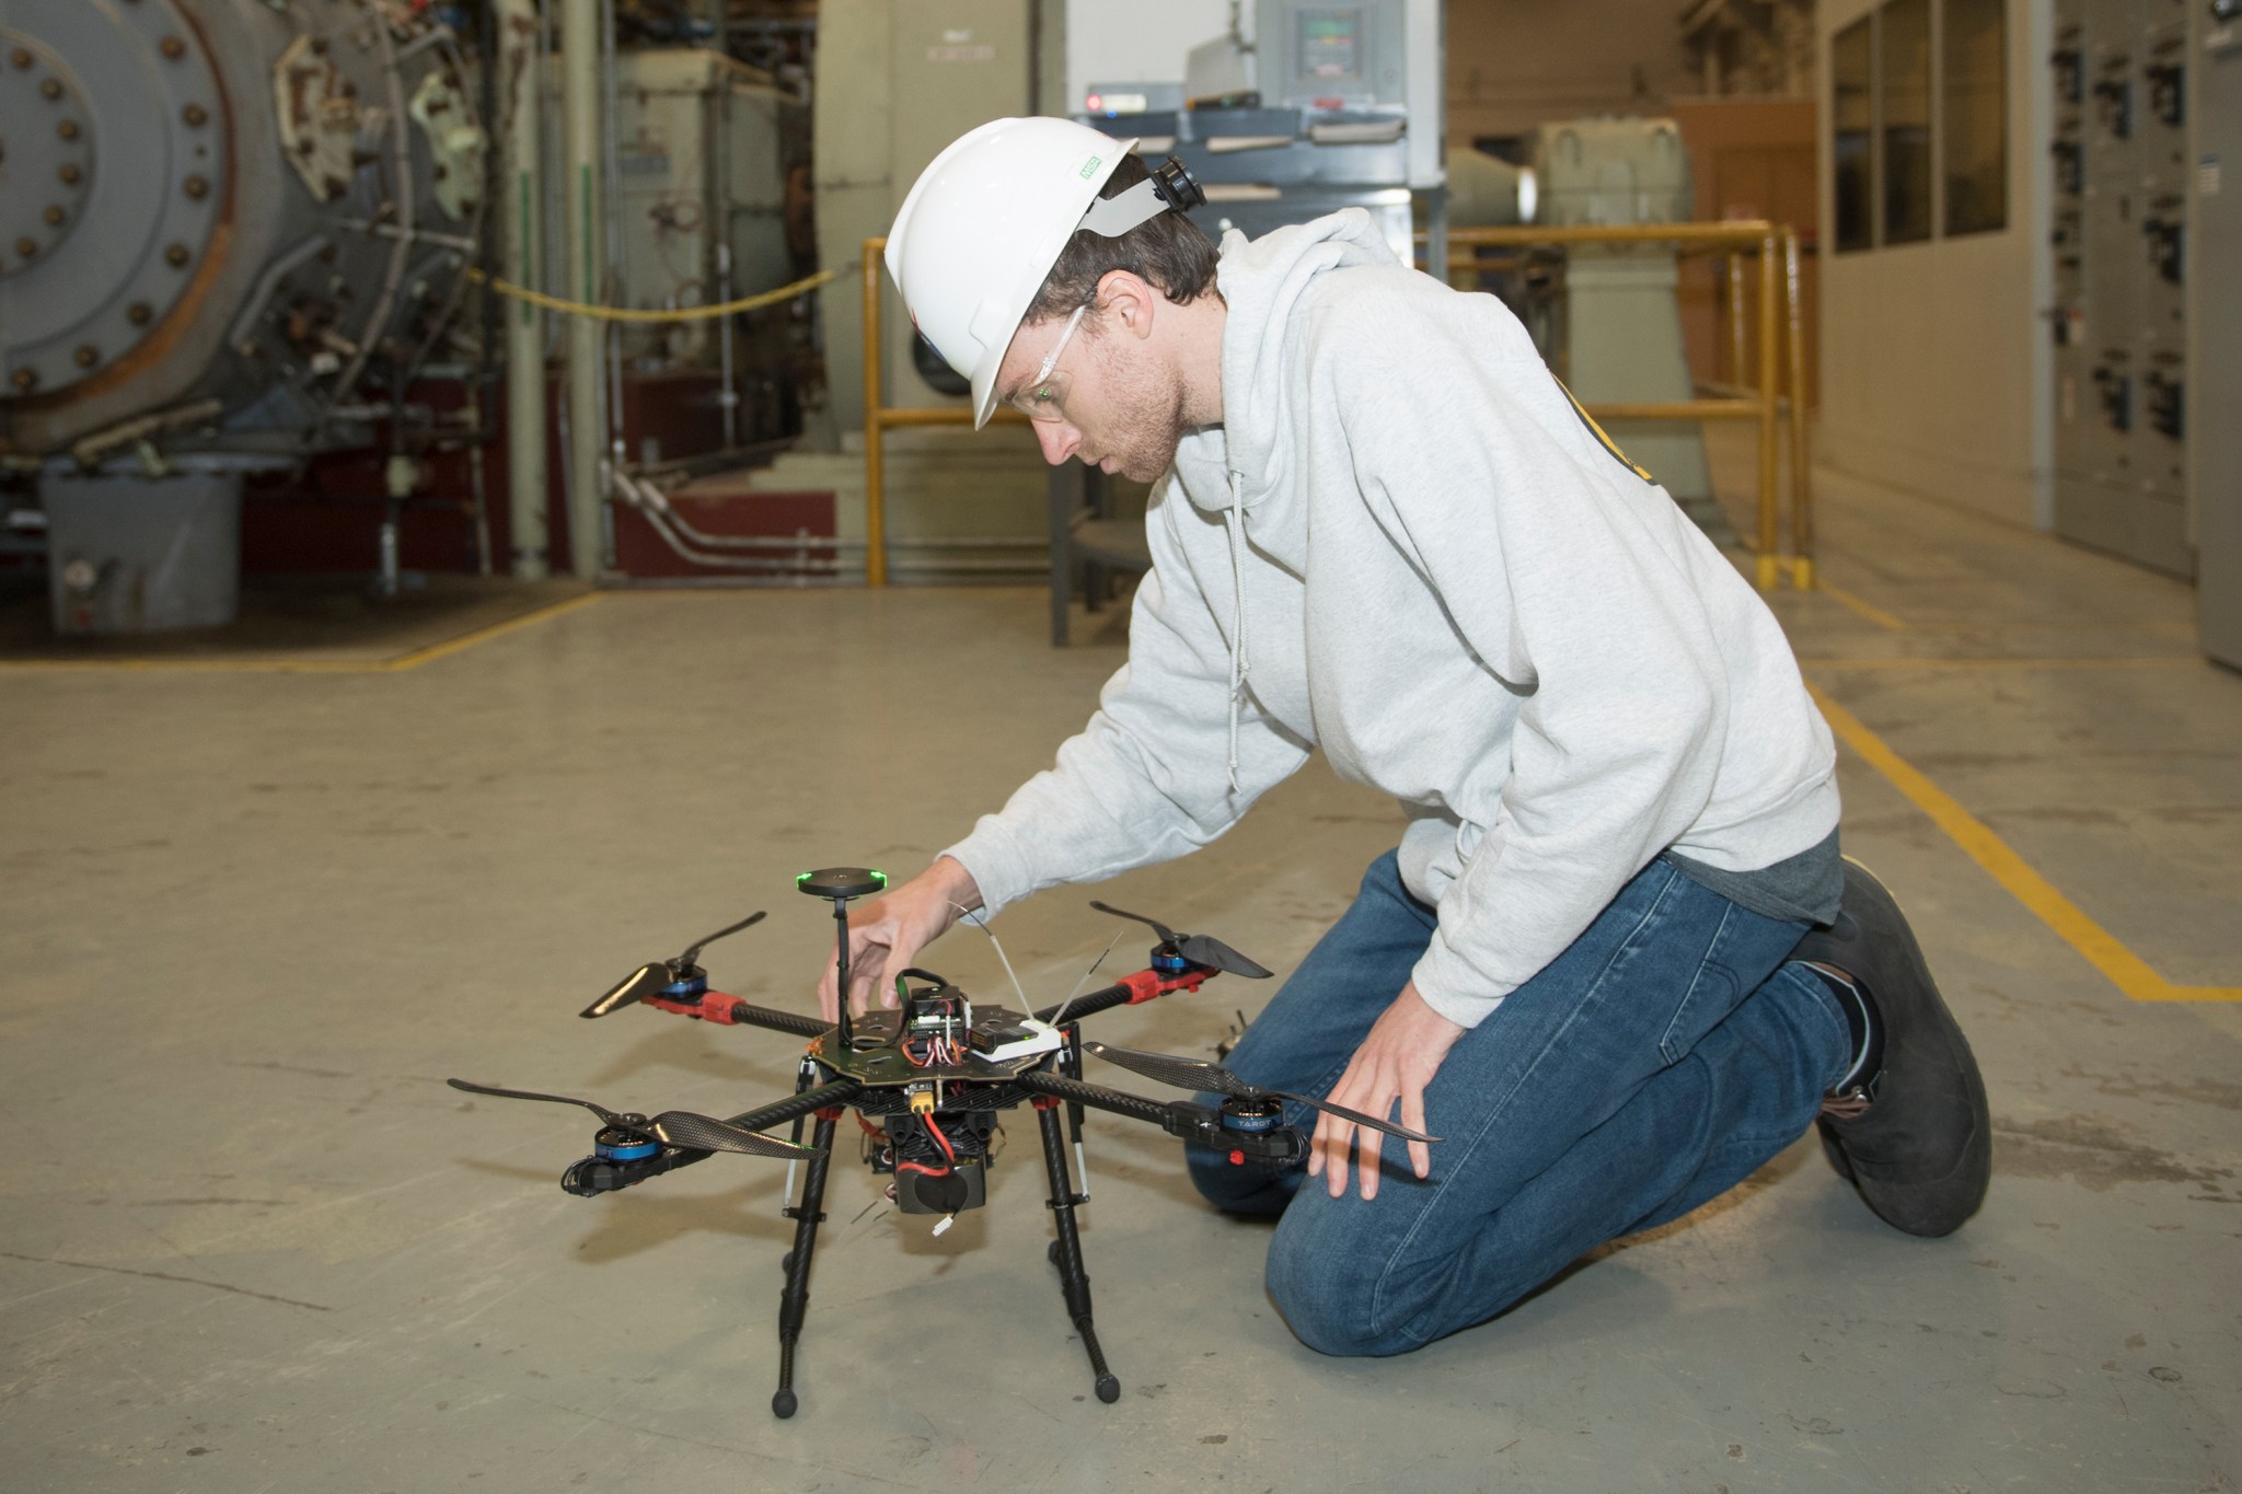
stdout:
[[[1229,1068],[1325,1095],[1424,954],[1433,909],[1370,865]],[[1309,1348],[1408,1353],[1495,1317],[1603,1241],[1677,1218],[1814,1122],[1852,1059],[1843,1010],[1787,965],[1803,923],[1650,862],[1547,970],[1464,1033],[1426,1091],[1433,1176],[1386,1140],[1379,1196],[1191,1149],[1217,1207],[1282,1218],[1269,1295]],[[1217,1104],[1215,1095],[1199,1095]],[[1316,1113],[1287,1107],[1312,1131]]]

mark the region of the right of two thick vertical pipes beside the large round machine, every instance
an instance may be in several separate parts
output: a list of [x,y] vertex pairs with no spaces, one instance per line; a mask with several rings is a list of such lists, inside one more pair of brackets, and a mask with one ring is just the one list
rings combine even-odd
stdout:
[[[567,130],[567,269],[576,300],[599,302],[605,280],[601,224],[605,181],[601,172],[599,96],[599,0],[560,0],[560,110]],[[567,323],[567,486],[569,560],[576,576],[599,576],[605,495],[601,452],[605,450],[605,392],[601,390],[601,323],[572,316]]]

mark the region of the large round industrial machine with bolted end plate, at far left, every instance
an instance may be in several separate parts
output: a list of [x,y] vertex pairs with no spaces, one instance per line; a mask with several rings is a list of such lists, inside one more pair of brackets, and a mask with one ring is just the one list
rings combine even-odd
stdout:
[[229,531],[240,470],[397,414],[466,289],[484,146],[426,7],[0,11],[0,457],[72,535],[58,625],[226,620],[166,611],[211,589],[103,535],[146,535],[168,482],[215,504],[186,522]]

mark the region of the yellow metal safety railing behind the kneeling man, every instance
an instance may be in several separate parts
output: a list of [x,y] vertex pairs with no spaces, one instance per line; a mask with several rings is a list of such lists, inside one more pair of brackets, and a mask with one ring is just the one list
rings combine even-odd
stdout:
[[[1735,343],[1735,367],[1742,370],[1744,260],[1760,260],[1760,387],[1751,396],[1677,399],[1664,403],[1587,403],[1583,410],[1599,421],[1738,421],[1760,423],[1760,508],[1758,573],[1760,591],[1773,591],[1782,578],[1780,562],[1780,421],[1782,421],[1782,352],[1791,374],[1791,585],[1814,589],[1814,497],[1807,466],[1805,410],[1805,332],[1798,300],[1798,233],[1769,222],[1731,224],[1583,224],[1574,228],[1451,228],[1448,271],[1482,271],[1473,258],[1480,246],[1540,249],[1556,244],[1679,244],[1684,253],[1729,255],[1729,316]],[[973,410],[951,405],[939,410],[897,410],[881,401],[881,251],[886,237],[863,242],[863,578],[868,587],[888,585],[888,493],[886,432],[906,426],[971,426]],[[1462,253],[1457,253],[1462,251]],[[1787,349],[1778,343],[1776,318],[1789,327]],[[1027,423],[1018,410],[998,410],[1004,423]]]

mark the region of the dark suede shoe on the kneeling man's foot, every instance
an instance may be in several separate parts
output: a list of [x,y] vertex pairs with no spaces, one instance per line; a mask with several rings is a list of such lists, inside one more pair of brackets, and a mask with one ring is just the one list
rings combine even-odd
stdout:
[[1847,858],[1836,925],[1807,934],[1791,959],[1850,974],[1883,1030],[1881,1073],[1823,1104],[1823,1149],[1883,1223],[1953,1234],[1984,1203],[1993,1124],[1977,1059],[1899,905]]

